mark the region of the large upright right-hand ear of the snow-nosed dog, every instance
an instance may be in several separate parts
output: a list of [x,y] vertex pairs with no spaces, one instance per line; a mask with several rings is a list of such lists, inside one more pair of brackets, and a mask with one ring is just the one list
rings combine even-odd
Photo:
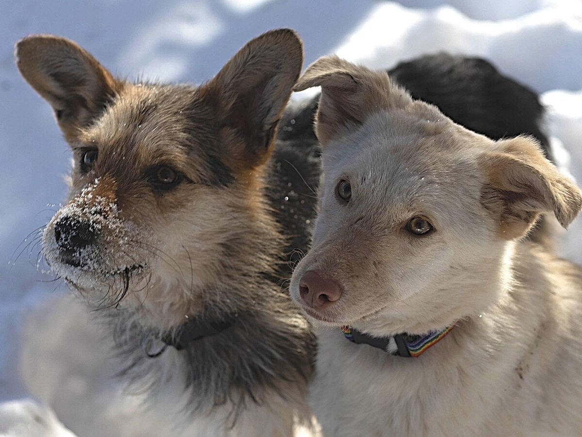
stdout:
[[290,29],[249,41],[202,89],[222,126],[223,158],[235,171],[264,163],[303,64],[303,44]]

